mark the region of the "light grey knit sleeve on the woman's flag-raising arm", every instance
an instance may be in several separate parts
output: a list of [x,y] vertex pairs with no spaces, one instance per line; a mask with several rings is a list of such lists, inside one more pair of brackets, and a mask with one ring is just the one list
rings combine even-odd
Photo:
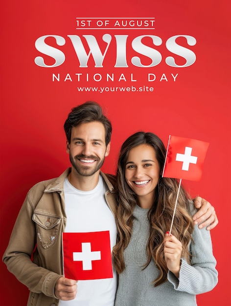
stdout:
[[206,228],[194,227],[193,241],[189,251],[192,254],[191,264],[182,259],[179,279],[168,271],[168,281],[177,291],[190,294],[201,294],[212,290],[218,283],[216,260],[212,254],[210,232]]

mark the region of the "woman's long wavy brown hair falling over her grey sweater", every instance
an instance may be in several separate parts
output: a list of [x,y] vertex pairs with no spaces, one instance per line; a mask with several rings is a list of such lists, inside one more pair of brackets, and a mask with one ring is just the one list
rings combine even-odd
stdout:
[[[141,144],[152,146],[156,152],[156,158],[159,162],[161,174],[163,171],[166,150],[161,139],[150,132],[137,132],[131,135],[123,143],[117,168],[117,241],[113,249],[113,263],[118,273],[125,269],[124,250],[129,244],[133,227],[133,210],[137,205],[137,197],[135,192],[128,186],[125,180],[125,164],[127,162],[128,153],[132,148]],[[150,222],[149,239],[147,243],[148,260],[143,268],[153,259],[156,263],[160,274],[154,280],[155,286],[164,283],[167,280],[168,268],[164,260],[163,239],[165,232],[169,231],[175,207],[179,182],[175,178],[162,177],[158,182],[155,190],[153,205],[148,212]],[[183,187],[180,188],[177,208],[175,212],[174,222],[171,233],[182,242],[182,257],[190,262],[190,254],[188,252],[188,244],[191,241],[193,231],[193,221],[189,209],[189,195]]]

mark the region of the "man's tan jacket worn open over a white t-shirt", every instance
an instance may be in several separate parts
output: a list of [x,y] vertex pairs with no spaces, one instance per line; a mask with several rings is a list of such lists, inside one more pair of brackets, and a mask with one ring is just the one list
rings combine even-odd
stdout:
[[[59,304],[54,287],[63,274],[61,234],[67,221],[63,185],[69,171],[29,190],[2,258],[8,270],[29,288],[27,306]],[[115,216],[115,177],[100,174],[109,188],[105,197]]]

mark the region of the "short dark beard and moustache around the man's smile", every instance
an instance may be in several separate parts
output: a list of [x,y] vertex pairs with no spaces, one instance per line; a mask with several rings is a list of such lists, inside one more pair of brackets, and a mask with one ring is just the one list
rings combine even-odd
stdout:
[[[94,168],[90,168],[89,166],[85,166],[85,165],[77,165],[75,163],[75,159],[85,159],[85,158],[95,160],[96,164],[95,164]],[[104,158],[105,157],[103,157],[103,159],[100,160],[98,157],[93,156],[93,155],[90,155],[90,156],[75,155],[74,158],[73,158],[69,154],[69,159],[70,159],[70,163],[71,163],[72,167],[77,171],[77,173],[79,175],[82,175],[82,176],[91,176],[91,175],[95,174],[102,167],[103,162],[104,162]]]

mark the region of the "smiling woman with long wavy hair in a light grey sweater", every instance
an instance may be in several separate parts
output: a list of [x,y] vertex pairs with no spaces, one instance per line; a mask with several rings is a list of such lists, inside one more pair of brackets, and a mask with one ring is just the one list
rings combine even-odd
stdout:
[[218,282],[210,233],[194,226],[194,207],[183,187],[169,236],[179,183],[162,177],[165,154],[150,132],[131,135],[120,150],[115,306],[195,306],[196,294]]

